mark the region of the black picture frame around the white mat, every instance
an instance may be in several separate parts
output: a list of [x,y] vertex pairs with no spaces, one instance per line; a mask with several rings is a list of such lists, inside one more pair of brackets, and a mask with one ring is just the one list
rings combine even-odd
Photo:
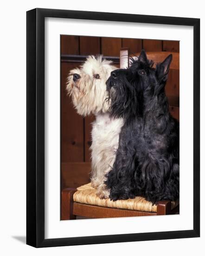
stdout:
[[[45,17],[193,27],[193,229],[45,239]],[[26,243],[34,247],[120,243],[200,236],[200,19],[33,9],[26,13]]]

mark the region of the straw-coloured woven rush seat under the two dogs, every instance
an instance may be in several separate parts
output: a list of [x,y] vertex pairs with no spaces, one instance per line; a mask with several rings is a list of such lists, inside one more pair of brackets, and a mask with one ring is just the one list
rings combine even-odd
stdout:
[[[96,195],[96,189],[91,186],[91,183],[85,184],[73,194],[73,201],[83,204],[96,205],[109,208],[157,212],[157,205],[152,205],[144,197],[136,196],[134,199],[117,200],[115,202],[110,199],[100,199]],[[175,208],[179,204],[178,201],[172,202],[171,208]]]

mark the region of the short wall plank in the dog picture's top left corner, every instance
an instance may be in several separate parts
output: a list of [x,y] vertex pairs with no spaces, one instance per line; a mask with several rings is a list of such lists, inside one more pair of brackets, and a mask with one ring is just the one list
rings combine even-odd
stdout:
[[79,37],[61,35],[61,54],[79,54]]

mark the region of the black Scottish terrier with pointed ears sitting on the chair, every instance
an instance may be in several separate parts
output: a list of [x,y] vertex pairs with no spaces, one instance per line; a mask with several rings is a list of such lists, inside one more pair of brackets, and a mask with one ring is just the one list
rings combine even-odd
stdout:
[[124,118],[105,182],[111,200],[179,198],[179,122],[170,115],[165,95],[171,61],[169,55],[153,68],[142,50],[131,67],[111,72],[107,81],[110,113]]

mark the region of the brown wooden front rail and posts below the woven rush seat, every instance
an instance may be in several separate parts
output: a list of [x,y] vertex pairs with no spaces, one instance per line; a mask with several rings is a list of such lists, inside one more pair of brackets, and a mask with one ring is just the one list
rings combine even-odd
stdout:
[[160,201],[157,204],[157,212],[143,212],[135,210],[125,210],[107,208],[90,204],[83,204],[73,201],[73,194],[77,189],[69,188],[61,192],[61,220],[75,220],[76,216],[88,218],[115,218],[134,216],[155,216],[170,215],[179,212],[179,205],[171,209],[171,201]]

